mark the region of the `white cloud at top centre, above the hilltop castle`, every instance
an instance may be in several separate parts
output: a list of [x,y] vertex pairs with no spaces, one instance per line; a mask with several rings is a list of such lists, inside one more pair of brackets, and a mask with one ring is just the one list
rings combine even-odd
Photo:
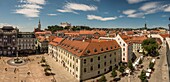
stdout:
[[78,3],[66,3],[63,9],[57,9],[59,12],[73,12],[75,11],[95,11],[97,10],[96,6],[86,5],[86,4],[78,4]]

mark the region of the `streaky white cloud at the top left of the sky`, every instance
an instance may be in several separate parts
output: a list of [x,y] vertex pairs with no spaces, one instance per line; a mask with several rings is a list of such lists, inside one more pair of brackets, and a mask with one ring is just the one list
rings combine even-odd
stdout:
[[20,3],[14,13],[33,18],[39,17],[40,9],[43,9],[42,5],[46,4],[46,0],[20,0]]

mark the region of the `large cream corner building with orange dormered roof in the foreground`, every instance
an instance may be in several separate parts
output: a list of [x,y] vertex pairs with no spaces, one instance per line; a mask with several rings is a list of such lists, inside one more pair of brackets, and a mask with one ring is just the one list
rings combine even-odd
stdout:
[[79,81],[111,71],[121,61],[121,48],[112,41],[63,40],[49,44],[49,55]]

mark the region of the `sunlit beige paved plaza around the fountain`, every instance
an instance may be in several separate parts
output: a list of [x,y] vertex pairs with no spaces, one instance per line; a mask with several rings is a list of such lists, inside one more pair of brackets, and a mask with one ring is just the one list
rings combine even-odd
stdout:
[[[45,76],[44,68],[39,64],[41,57],[45,56],[54,76]],[[52,58],[47,55],[34,55],[29,57],[30,61],[23,66],[11,66],[7,64],[9,57],[0,59],[0,82],[78,82],[67,71],[62,69]],[[28,73],[30,72],[30,74]]]

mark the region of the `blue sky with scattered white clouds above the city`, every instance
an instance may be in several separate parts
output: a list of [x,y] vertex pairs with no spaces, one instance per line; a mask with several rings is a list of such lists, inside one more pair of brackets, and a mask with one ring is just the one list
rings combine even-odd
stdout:
[[69,22],[95,28],[168,28],[170,0],[0,0],[0,27],[33,31]]

